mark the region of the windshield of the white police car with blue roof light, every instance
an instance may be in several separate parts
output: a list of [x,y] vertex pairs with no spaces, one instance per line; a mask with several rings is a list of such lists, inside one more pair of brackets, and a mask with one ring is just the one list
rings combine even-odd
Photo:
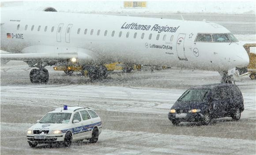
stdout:
[[48,113],[39,123],[68,123],[72,113]]

